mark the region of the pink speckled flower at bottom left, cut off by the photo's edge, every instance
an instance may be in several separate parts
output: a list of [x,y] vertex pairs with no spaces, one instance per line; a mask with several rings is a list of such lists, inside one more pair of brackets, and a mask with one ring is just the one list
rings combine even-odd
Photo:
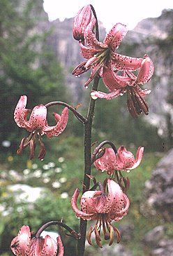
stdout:
[[22,226],[19,233],[11,242],[11,250],[16,256],[63,256],[63,243],[61,237],[54,241],[50,236],[36,238],[29,226]]

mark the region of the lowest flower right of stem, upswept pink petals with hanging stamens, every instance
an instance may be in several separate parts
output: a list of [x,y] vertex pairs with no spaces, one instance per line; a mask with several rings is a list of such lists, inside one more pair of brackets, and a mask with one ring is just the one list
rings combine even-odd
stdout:
[[[114,180],[105,180],[102,184],[98,183],[99,191],[89,190],[84,192],[81,198],[81,210],[77,208],[77,198],[80,194],[79,189],[75,190],[72,197],[72,208],[77,217],[83,220],[96,220],[94,227],[91,227],[87,234],[89,244],[91,242],[91,234],[95,233],[96,243],[102,248],[100,243],[100,232],[103,228],[105,240],[110,240],[109,245],[114,241],[114,232],[117,234],[117,242],[119,243],[120,234],[116,227],[113,227],[111,222],[118,221],[128,213],[130,202],[126,194],[123,194],[119,184]],[[108,193],[106,194],[106,187]]]

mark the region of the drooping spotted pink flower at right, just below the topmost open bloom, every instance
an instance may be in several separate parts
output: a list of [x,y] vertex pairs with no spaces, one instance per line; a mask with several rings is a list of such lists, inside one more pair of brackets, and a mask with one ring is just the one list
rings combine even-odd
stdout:
[[151,90],[142,90],[139,84],[143,85],[151,80],[151,77],[153,76],[153,69],[153,62],[148,55],[144,55],[140,71],[137,76],[128,70],[124,71],[121,76],[114,70],[105,67],[103,82],[112,93],[92,91],[91,97],[94,100],[98,97],[110,100],[114,97],[127,93],[127,106],[131,116],[137,118],[137,116],[142,112],[147,115],[149,114],[149,107],[147,106],[144,97],[151,93]]

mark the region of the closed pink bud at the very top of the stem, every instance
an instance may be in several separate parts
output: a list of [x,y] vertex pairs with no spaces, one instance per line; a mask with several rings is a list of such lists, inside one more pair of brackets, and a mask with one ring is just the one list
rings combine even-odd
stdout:
[[84,40],[84,32],[91,22],[91,27],[96,23],[96,18],[91,11],[91,6],[87,5],[80,9],[80,11],[75,16],[73,22],[73,37],[75,40]]

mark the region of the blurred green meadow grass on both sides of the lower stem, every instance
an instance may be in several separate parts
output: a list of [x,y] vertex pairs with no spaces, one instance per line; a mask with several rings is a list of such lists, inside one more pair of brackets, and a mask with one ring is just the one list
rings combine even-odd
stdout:
[[[23,180],[22,183],[27,182],[27,184],[31,185],[32,187],[40,186],[50,189],[50,194],[47,194],[47,196],[50,196],[50,198],[47,197],[46,202],[43,200],[40,201],[40,204],[38,204],[38,206],[40,206],[40,212],[43,213],[42,215],[45,215],[47,218],[61,216],[63,217],[63,220],[68,221],[68,224],[70,223],[73,227],[77,227],[79,220],[75,218],[73,210],[70,209],[70,197],[72,196],[76,187],[78,187],[80,191],[82,190],[84,163],[82,144],[82,138],[78,137],[65,137],[64,140],[61,140],[61,142],[59,140],[58,144],[55,142],[55,140],[52,140],[51,146],[54,151],[47,151],[47,155],[44,161],[38,161],[38,159],[28,161],[27,152],[24,152],[24,156],[6,155],[6,162],[0,166],[1,173],[5,172],[7,174],[5,179],[6,182],[5,180],[1,181],[3,189],[6,184],[17,183],[17,180],[15,180],[14,177],[10,177],[10,173],[12,173],[10,170],[16,170],[19,175],[22,175],[22,177],[27,177],[27,175],[29,176],[30,174],[31,178]],[[131,236],[130,241],[126,241],[126,246],[133,252],[134,256],[145,255],[142,248],[142,238],[144,237],[144,234],[146,234],[146,232],[151,230],[153,227],[156,227],[158,224],[163,223],[159,217],[144,217],[140,210],[140,204],[143,198],[144,184],[146,180],[151,177],[152,170],[156,167],[156,163],[159,159],[160,157],[156,156],[153,152],[144,154],[140,166],[137,169],[132,170],[130,173],[124,174],[126,176],[128,175],[130,178],[130,189],[128,190],[128,198],[130,198],[130,209],[128,215],[124,217],[123,220],[118,222],[116,227],[119,227],[119,225],[122,224],[132,224],[134,226],[133,236]],[[50,163],[54,163],[54,167],[51,168]],[[35,168],[33,168],[34,165]],[[43,166],[49,165],[49,168],[43,168]],[[29,170],[29,174],[27,175],[26,169]],[[38,170],[41,170],[40,174]],[[61,172],[58,171],[56,173],[55,170],[61,170]],[[36,171],[38,173],[37,175]],[[92,175],[96,176],[97,180],[100,177],[100,173],[98,173],[95,168],[92,169]],[[106,176],[106,173],[102,173],[101,180],[104,180]],[[45,177],[50,178],[49,182],[44,183]],[[59,181],[61,178],[63,178],[63,180],[65,179],[66,182],[62,182],[61,187],[59,188],[52,187],[53,182]],[[68,193],[68,198],[66,198],[66,200],[61,199],[61,194],[64,192]],[[34,212],[34,209],[32,218],[38,224],[40,222],[38,220],[39,217],[42,220],[44,220],[44,218],[42,215],[40,215],[39,209],[37,213],[36,210]],[[54,214],[54,211],[57,211],[57,214]],[[27,220],[29,220],[31,215],[28,215],[28,213],[26,213],[26,215],[28,217]],[[27,220],[24,219],[24,222]],[[8,221],[8,218],[4,218],[4,221]],[[21,222],[21,216],[17,216],[17,213],[15,216],[15,222]],[[11,225],[13,226],[12,229],[14,230],[15,223]],[[171,231],[168,230],[168,234],[169,232],[171,233]],[[122,239],[121,243],[125,244],[125,241]],[[95,247],[93,247],[91,250],[95,251]],[[95,255],[100,253],[99,250],[98,248],[96,249],[94,252]]]

